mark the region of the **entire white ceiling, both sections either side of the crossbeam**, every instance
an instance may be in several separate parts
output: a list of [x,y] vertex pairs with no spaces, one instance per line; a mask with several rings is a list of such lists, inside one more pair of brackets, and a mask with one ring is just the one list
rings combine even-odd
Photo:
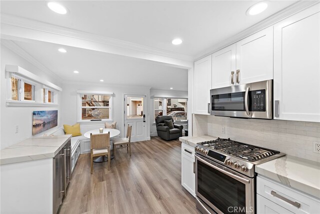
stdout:
[[[246,16],[258,1],[58,1],[69,13],[50,11],[47,1],[1,1],[1,14],[78,30],[190,59],[297,1],[269,1],[266,11]],[[54,36],[54,35],[53,35]],[[179,37],[183,43],[171,44]],[[23,41],[23,40],[21,40]],[[142,85],[187,91],[187,72],[147,60],[44,42],[14,41],[65,81]],[[78,70],[79,74],[72,71]]]

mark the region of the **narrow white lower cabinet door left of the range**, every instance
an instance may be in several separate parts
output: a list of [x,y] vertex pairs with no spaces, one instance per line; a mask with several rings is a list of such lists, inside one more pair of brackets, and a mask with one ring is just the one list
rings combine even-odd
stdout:
[[181,154],[181,185],[195,197],[194,156]]

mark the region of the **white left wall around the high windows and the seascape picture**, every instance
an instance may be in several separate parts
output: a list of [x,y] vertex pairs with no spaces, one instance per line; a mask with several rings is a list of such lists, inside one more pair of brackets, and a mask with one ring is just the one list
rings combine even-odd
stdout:
[[[47,74],[22,57],[18,56],[1,44],[1,73],[0,73],[0,149],[15,144],[23,139],[32,137],[32,112],[45,110],[58,110],[58,126],[61,125],[61,110],[59,107],[6,107],[5,106],[5,65],[20,66],[52,83],[60,86],[58,80],[51,74]],[[58,94],[60,103],[60,93]],[[15,133],[15,125],[18,125],[18,133]],[[55,128],[52,128],[55,129]],[[43,135],[47,130],[38,135]],[[36,136],[38,136],[36,135]]]

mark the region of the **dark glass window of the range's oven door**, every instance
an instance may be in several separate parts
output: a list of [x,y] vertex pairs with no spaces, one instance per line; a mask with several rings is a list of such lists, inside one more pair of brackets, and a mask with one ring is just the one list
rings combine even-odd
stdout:
[[245,184],[197,161],[197,191],[223,213],[245,213]]

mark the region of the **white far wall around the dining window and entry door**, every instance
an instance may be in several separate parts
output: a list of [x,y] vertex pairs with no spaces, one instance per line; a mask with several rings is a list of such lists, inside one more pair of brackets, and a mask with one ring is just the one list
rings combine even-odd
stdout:
[[[127,86],[127,85],[110,85],[103,83],[63,83],[63,94],[61,101],[62,108],[62,124],[73,125],[77,122],[77,90],[87,91],[108,91],[113,92],[113,121],[116,121],[118,129],[120,130],[120,136],[124,136],[123,122],[124,122],[124,94],[129,95],[146,95],[146,100],[149,100],[150,89],[144,86]],[[149,109],[149,103],[146,102],[147,109]],[[126,105],[126,104],[125,104]],[[146,117],[149,117],[150,112],[147,112]],[[149,121],[146,119],[146,121]],[[87,121],[80,122],[81,133],[103,127],[103,121]],[[147,126],[147,137],[149,137],[150,129]]]

